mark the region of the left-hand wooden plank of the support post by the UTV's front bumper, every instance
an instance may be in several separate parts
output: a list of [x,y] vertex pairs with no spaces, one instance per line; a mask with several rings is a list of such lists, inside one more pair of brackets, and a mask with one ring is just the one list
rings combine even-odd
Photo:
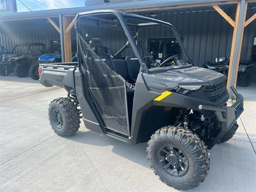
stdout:
[[229,60],[229,69],[228,69],[228,80],[227,80],[228,91],[230,90],[231,69],[233,68],[234,53],[235,53],[236,38],[237,38],[238,19],[239,19],[240,10],[241,10],[241,1],[239,1],[237,3],[237,7],[236,7],[235,27],[234,27],[234,31],[233,31],[231,51],[230,51],[230,60]]

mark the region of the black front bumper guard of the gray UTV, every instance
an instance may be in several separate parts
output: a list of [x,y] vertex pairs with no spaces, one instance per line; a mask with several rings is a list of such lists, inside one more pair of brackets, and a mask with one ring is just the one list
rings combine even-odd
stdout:
[[236,102],[233,103],[230,107],[222,106],[222,107],[212,107],[206,105],[199,105],[199,110],[210,110],[214,111],[215,115],[217,116],[218,121],[221,123],[221,131],[213,139],[210,145],[207,147],[211,149],[227,132],[231,131],[231,127],[235,124],[238,117],[244,111],[244,98],[241,94],[237,93],[234,86],[230,87],[236,97]]

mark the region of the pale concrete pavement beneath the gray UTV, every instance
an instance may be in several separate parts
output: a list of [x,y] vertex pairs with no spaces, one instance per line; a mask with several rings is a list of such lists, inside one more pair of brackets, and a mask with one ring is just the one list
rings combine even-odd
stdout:
[[[175,191],[149,168],[146,143],[130,146],[83,123],[72,137],[54,134],[47,108],[63,89],[0,81],[0,191]],[[209,176],[191,191],[256,191],[256,102],[248,90],[234,139],[210,150]]]

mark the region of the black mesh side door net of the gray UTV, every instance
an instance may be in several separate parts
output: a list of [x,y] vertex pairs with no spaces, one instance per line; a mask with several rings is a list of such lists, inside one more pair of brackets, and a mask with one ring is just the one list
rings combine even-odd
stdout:
[[[78,49],[83,58],[87,91],[97,106],[98,113],[106,125],[106,131],[129,136],[125,80],[113,70],[110,55],[99,56],[95,47],[91,45],[93,41],[90,44],[81,35],[77,38]],[[101,46],[99,44],[98,42],[98,47]]]

